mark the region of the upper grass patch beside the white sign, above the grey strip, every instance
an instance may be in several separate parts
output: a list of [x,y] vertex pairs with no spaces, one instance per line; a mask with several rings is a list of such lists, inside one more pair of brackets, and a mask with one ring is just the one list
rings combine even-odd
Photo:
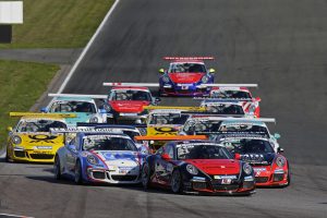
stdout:
[[24,24],[0,48],[84,47],[114,0],[24,0]]

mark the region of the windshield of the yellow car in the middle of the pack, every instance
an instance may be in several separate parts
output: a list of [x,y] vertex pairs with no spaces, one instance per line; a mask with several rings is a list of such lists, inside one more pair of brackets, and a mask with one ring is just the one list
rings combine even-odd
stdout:
[[181,113],[158,113],[152,114],[149,118],[149,124],[184,124],[190,116]]

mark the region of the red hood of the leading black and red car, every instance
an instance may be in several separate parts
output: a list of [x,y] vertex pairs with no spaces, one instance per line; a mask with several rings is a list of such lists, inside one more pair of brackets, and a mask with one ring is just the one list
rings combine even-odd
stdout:
[[240,162],[233,159],[185,160],[207,174],[239,174]]

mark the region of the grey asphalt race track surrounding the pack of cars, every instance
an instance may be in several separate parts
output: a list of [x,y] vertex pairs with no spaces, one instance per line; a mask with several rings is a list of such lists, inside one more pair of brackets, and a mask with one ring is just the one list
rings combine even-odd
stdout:
[[[162,56],[214,56],[216,82],[258,83],[264,117],[282,135],[292,184],[251,197],[78,186],[51,166],[0,164],[0,214],[33,217],[327,217],[327,2],[122,0],[63,93],[107,82],[156,82]],[[162,105],[194,104],[165,98]]]

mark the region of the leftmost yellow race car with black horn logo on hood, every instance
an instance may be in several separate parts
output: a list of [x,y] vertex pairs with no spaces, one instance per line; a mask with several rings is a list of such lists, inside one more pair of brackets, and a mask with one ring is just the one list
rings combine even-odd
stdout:
[[53,162],[56,152],[64,145],[62,134],[50,128],[66,128],[64,118],[74,114],[10,112],[22,117],[15,128],[8,128],[7,161]]

